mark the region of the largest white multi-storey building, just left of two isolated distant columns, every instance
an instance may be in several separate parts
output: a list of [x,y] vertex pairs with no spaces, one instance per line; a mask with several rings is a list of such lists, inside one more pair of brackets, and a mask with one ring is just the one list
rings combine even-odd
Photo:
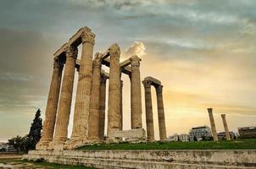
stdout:
[[194,137],[196,137],[198,141],[200,141],[203,139],[203,137],[212,137],[212,131],[211,128],[209,128],[208,126],[199,126],[197,128],[191,128],[189,130],[189,137],[191,141],[194,140]]

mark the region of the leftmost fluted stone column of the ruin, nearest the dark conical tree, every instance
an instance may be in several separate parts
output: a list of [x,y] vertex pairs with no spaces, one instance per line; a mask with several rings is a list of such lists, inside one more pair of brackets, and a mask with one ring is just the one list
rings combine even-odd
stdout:
[[42,137],[36,150],[47,150],[47,145],[53,140],[54,125],[58,108],[58,95],[61,84],[61,76],[63,63],[58,58],[54,58],[53,76],[47,100],[47,108],[45,112],[45,121],[43,123]]

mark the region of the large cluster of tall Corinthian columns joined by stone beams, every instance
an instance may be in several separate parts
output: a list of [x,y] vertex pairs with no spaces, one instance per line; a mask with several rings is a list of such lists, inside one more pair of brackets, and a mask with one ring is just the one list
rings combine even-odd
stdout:
[[[113,44],[93,58],[95,35],[83,27],[54,53],[53,75],[47,98],[42,138],[36,150],[72,150],[83,144],[125,140],[154,140],[151,85],[156,89],[159,136],[166,139],[164,120],[163,85],[158,79],[146,77],[141,81],[140,57],[131,56],[120,63],[120,47]],[[81,45],[81,59],[77,59]],[[109,73],[102,69],[109,67]],[[68,139],[68,126],[75,69],[78,83],[75,95],[73,128]],[[122,74],[131,79],[131,130],[123,130]],[[106,112],[106,81],[109,80],[108,112]],[[142,128],[142,91],[145,88],[146,125]],[[108,126],[105,125],[108,113]],[[107,135],[104,136],[104,129]]]

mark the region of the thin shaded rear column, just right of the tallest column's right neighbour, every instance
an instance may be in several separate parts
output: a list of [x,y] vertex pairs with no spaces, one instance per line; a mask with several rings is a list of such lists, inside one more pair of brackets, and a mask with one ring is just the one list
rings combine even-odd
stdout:
[[105,106],[106,106],[106,80],[105,74],[101,74],[100,105],[99,105],[99,139],[104,139],[105,130]]

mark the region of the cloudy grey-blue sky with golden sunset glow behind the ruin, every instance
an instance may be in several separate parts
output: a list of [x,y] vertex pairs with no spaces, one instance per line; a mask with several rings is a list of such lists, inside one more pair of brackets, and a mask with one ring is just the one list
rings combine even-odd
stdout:
[[[121,60],[142,57],[142,78],[162,81],[168,135],[209,125],[208,107],[218,131],[221,113],[232,131],[256,125],[255,8],[253,0],[2,0],[0,141],[28,133],[37,108],[44,118],[53,53],[85,25],[96,34],[94,52],[116,42]],[[123,80],[129,129],[130,84]],[[155,95],[153,113],[158,138]]]

